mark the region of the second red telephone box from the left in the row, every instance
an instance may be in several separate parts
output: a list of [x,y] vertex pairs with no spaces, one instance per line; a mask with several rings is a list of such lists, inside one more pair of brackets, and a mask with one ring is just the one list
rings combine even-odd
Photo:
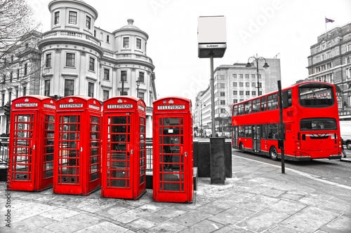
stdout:
[[100,101],[64,97],[56,110],[53,192],[89,195],[100,188]]

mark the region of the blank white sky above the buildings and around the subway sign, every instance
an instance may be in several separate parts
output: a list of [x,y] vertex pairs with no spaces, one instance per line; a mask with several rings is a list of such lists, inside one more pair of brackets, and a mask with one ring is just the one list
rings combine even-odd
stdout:
[[[39,31],[50,31],[51,0],[28,0]],[[157,99],[194,99],[210,82],[210,59],[197,55],[199,16],[226,17],[227,50],[214,59],[223,64],[246,63],[251,56],[277,57],[282,87],[307,78],[310,46],[326,29],[351,22],[350,0],[84,0],[98,11],[95,27],[114,31],[127,19],[149,35],[147,56],[155,66]],[[327,17],[335,22],[325,24]],[[268,68],[269,69],[269,68]]]

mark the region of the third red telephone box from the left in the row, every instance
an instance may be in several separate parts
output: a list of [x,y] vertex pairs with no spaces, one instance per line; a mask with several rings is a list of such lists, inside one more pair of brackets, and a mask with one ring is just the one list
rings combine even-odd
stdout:
[[104,101],[101,196],[138,199],[146,192],[145,102]]

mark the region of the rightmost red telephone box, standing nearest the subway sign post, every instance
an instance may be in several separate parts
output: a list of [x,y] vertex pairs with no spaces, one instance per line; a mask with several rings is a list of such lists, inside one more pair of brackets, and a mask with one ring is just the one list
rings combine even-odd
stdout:
[[192,103],[190,99],[166,97],[153,104],[153,199],[192,202]]

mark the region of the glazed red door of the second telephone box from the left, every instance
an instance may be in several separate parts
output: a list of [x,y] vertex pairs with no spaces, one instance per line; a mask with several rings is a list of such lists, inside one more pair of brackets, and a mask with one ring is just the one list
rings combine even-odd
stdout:
[[81,188],[69,188],[67,185],[79,185],[81,183],[81,113],[65,113],[58,115],[58,182],[55,190],[58,193],[80,194]]

